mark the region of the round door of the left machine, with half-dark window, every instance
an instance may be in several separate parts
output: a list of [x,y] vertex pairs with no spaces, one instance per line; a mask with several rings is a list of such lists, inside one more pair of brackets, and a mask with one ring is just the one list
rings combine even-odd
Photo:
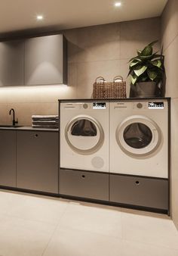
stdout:
[[73,151],[91,155],[103,145],[103,127],[93,117],[78,115],[66,125],[66,142]]

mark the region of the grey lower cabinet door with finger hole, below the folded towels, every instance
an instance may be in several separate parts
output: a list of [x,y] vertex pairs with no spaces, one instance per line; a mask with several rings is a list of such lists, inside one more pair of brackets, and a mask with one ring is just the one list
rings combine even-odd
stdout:
[[17,187],[58,192],[58,133],[17,131]]

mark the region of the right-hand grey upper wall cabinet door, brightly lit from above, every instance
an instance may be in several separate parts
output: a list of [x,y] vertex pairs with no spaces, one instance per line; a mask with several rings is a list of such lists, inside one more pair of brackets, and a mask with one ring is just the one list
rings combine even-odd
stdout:
[[63,35],[39,36],[25,42],[25,85],[66,83]]

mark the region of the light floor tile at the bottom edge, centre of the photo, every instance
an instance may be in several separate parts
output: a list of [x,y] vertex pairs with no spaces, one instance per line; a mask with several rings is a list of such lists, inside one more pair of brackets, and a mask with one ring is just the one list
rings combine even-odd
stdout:
[[120,256],[121,239],[74,229],[58,229],[43,256]]

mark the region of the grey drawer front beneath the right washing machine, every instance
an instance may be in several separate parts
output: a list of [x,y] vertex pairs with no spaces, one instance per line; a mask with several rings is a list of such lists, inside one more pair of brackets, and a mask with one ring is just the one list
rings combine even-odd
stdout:
[[109,201],[168,209],[168,180],[110,175]]

